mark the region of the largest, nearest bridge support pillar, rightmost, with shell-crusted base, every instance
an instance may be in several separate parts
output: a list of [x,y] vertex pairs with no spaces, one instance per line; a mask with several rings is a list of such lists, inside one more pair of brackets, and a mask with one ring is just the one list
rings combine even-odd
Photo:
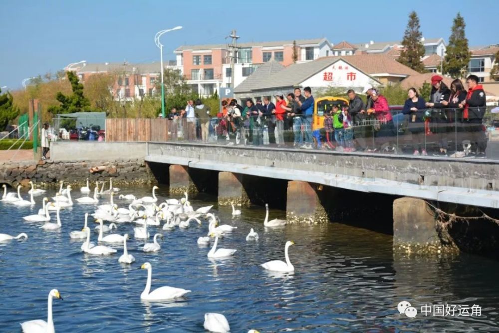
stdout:
[[428,204],[417,198],[393,201],[394,253],[441,253],[442,243],[435,216]]

